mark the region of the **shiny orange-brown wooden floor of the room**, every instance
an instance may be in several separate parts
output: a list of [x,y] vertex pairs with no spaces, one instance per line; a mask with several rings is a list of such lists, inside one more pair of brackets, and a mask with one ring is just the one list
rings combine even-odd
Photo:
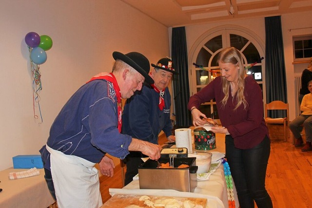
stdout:
[[[271,155],[268,164],[266,187],[274,208],[312,208],[312,151],[295,148],[291,138],[285,142],[283,126],[269,125]],[[305,137],[303,136],[304,140]],[[160,138],[164,141],[163,138]],[[160,142],[161,143],[161,142]],[[109,188],[122,188],[120,167],[114,177],[100,178],[103,202],[111,196]]]

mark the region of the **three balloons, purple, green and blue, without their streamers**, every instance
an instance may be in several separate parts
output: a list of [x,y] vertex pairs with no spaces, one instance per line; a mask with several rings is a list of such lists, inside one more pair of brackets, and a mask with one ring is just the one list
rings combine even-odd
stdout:
[[47,36],[39,36],[35,32],[29,32],[25,36],[25,42],[30,49],[30,59],[35,64],[43,64],[47,60],[45,51],[52,48],[52,39]]

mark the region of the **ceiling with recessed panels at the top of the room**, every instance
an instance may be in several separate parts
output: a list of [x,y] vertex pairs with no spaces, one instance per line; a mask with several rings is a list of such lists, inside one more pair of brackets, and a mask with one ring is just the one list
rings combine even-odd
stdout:
[[[167,27],[312,11],[312,0],[122,1]],[[233,6],[232,10],[231,5]]]

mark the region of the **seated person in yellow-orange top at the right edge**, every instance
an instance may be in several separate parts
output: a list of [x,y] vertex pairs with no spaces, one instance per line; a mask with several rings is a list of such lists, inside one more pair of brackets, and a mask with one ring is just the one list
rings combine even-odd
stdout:
[[292,131],[294,138],[296,139],[294,146],[301,147],[303,139],[300,134],[303,124],[304,131],[306,132],[306,145],[301,151],[312,151],[312,80],[308,82],[309,94],[304,95],[300,104],[301,114],[292,120],[289,124],[289,129]]

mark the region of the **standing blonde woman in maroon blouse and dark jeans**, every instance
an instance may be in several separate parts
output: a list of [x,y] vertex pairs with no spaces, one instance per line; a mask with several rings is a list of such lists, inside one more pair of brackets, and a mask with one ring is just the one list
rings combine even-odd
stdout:
[[261,89],[253,76],[247,76],[240,51],[223,49],[217,58],[221,76],[216,77],[190,97],[188,109],[193,124],[200,126],[207,118],[198,109],[215,98],[223,127],[212,132],[225,133],[225,151],[237,190],[240,208],[272,208],[265,188],[271,141],[263,116]]

